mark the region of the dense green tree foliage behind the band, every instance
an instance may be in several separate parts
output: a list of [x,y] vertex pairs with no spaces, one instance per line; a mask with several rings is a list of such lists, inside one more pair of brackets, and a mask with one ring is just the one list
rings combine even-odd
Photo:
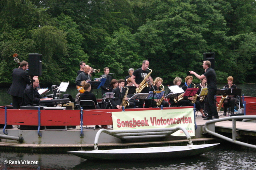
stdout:
[[11,83],[14,53],[41,53],[48,84],[74,83],[80,61],[119,79],[144,59],[153,78],[172,84],[203,74],[209,52],[219,83],[255,82],[255,9],[254,0],[2,0],[0,84]]

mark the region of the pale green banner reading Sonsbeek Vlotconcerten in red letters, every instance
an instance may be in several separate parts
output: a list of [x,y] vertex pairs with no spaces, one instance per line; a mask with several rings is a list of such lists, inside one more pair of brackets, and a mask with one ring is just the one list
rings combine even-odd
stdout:
[[[113,129],[153,129],[166,127],[184,127],[190,136],[195,135],[193,108],[164,109],[145,111],[112,112]],[[173,136],[186,136],[182,130]]]

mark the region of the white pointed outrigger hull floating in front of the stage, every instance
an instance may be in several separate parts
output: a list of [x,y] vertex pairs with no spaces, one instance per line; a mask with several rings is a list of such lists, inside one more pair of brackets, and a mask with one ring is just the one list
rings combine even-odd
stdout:
[[155,160],[200,155],[217,145],[219,143],[174,147],[71,151],[68,153],[87,160]]

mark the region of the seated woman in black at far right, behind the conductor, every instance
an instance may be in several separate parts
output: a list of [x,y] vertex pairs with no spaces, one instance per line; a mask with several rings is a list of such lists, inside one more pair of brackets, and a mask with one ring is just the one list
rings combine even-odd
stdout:
[[[232,76],[229,76],[227,78],[227,80],[228,80],[228,84],[226,84],[224,86],[224,88],[237,88],[236,84],[233,84],[234,78]],[[231,109],[231,114],[234,114],[235,104],[236,104],[236,96],[228,96],[228,98],[226,98],[223,101],[223,108],[224,108],[223,115],[224,116],[227,115],[227,110],[228,110],[229,106],[230,106],[230,109]]]

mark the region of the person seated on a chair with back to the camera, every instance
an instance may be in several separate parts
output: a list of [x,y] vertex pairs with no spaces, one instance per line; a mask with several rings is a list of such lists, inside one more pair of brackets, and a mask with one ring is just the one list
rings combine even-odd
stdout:
[[[92,101],[94,101],[97,109],[100,109],[100,106],[98,106],[95,94],[92,94],[90,92],[91,91],[91,84],[86,82],[86,81],[82,81],[81,86],[83,86],[85,91],[84,91],[84,93],[82,93],[80,95],[80,100],[92,100]],[[90,109],[95,109],[95,107],[92,106]]]

